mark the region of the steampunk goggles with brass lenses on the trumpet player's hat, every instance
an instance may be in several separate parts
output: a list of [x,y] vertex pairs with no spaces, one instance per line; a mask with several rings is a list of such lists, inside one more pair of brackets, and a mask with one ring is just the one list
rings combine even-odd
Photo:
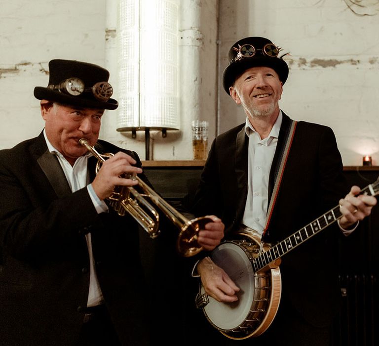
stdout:
[[98,82],[93,87],[85,87],[83,81],[76,77],[68,78],[58,85],[50,84],[47,87],[72,96],[91,92],[97,100],[103,102],[107,102],[113,94],[113,88],[108,82]]

